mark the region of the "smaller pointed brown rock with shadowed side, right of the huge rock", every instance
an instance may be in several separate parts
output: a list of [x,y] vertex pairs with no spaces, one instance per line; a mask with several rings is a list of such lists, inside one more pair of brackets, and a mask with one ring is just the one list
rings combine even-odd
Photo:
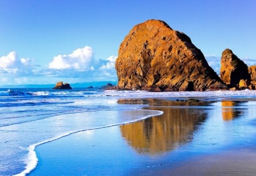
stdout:
[[222,81],[228,85],[237,85],[241,79],[250,80],[247,65],[230,49],[222,52],[220,75]]

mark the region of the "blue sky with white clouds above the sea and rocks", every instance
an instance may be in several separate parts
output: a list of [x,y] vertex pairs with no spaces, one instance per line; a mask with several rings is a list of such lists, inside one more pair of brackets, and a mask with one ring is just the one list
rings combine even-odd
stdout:
[[256,65],[256,1],[0,1],[0,85],[117,80],[130,29],[164,20],[186,33],[218,72],[230,48]]

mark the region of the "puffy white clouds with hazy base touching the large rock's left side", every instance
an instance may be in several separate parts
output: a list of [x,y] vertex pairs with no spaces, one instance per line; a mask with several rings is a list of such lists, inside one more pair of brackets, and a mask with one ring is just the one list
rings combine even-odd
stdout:
[[41,74],[55,78],[74,78],[80,81],[116,80],[115,57],[94,59],[90,46],[79,48],[68,55],[53,57]]

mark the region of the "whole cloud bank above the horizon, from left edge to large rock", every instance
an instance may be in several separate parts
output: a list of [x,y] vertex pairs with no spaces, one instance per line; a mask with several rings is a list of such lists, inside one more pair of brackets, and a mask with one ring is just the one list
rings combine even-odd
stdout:
[[116,81],[115,59],[117,57],[114,55],[106,59],[95,59],[93,49],[85,46],[71,54],[53,57],[52,61],[42,68],[34,65],[34,59],[19,59],[18,54],[11,51],[0,57],[0,84],[54,84],[62,80],[69,83]]

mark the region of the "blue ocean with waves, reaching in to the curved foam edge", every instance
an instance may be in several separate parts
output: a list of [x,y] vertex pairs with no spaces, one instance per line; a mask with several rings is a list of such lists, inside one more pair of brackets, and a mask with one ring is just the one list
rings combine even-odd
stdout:
[[[134,98],[137,101],[134,101]],[[249,90],[146,92],[114,91],[101,88],[74,88],[72,90],[2,88],[0,89],[0,112],[2,114],[0,116],[0,175],[30,174],[36,166],[40,166],[35,151],[35,148],[39,146],[61,141],[79,132],[133,124],[162,115],[164,110],[154,108],[158,105],[157,102],[148,108],[150,101],[143,101],[148,98],[172,101],[195,98],[211,102],[209,106],[214,107],[220,106],[216,102],[239,100],[243,102],[240,108],[247,109],[248,121],[255,121],[256,118],[253,116],[256,109],[254,103],[256,91]],[[120,103],[123,101],[127,102]],[[171,107],[171,105],[168,106]],[[251,133],[254,134],[255,131],[252,130]],[[207,137],[209,135],[205,140]],[[241,143],[241,140],[239,142]]]

